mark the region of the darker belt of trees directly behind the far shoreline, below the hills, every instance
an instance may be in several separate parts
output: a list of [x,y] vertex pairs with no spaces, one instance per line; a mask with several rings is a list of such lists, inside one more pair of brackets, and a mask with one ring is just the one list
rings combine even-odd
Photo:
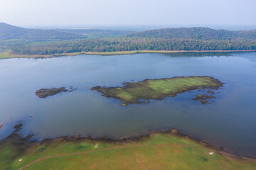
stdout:
[[130,50],[256,50],[256,41],[205,40],[83,40],[46,45],[21,45],[13,52],[52,55],[69,52],[116,52]]

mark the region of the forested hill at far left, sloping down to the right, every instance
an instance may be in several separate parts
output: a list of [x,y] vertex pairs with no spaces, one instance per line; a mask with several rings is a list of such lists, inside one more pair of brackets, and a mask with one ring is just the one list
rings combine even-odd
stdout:
[[73,40],[86,38],[85,35],[66,33],[58,30],[27,29],[11,26],[7,23],[0,23],[0,40],[19,39],[19,40]]

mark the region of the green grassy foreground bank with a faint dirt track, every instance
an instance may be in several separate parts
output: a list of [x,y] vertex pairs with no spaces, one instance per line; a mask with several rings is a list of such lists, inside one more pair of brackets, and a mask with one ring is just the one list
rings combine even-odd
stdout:
[[256,169],[255,159],[225,154],[176,134],[171,130],[126,142],[59,138],[34,143],[18,156],[16,147],[1,144],[0,169]]

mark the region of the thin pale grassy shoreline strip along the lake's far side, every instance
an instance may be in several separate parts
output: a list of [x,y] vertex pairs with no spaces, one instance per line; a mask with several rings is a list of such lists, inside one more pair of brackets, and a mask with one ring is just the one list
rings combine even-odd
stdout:
[[0,53],[1,59],[10,58],[51,58],[76,55],[133,55],[139,53],[179,53],[179,52],[256,52],[256,50],[134,50],[134,51],[117,51],[117,52],[71,52],[54,55],[16,55],[11,50]]

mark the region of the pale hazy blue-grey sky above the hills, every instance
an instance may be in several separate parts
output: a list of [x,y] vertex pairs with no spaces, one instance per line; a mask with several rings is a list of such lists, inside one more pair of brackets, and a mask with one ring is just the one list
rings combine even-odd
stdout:
[[16,26],[256,25],[256,0],[0,0]]

